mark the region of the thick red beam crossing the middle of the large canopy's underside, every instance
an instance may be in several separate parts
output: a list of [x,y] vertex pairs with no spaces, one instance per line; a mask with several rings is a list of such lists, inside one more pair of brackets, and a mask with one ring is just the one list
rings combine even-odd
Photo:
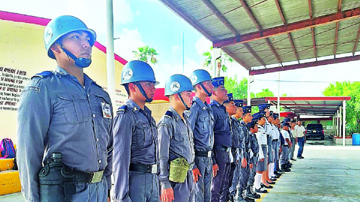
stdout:
[[319,25],[324,25],[328,23],[334,23],[337,21],[342,21],[346,19],[351,19],[360,16],[360,7],[345,10],[342,12],[336,12],[332,14],[327,14],[319,17],[314,17],[310,19],[305,19],[302,21],[297,21],[289,24],[284,24],[268,29],[262,29],[259,31],[237,35],[234,37],[229,37],[220,40],[214,40],[212,43],[213,47],[223,47],[227,45],[233,45],[238,43],[250,42],[262,38],[268,38],[270,36],[275,36],[283,33],[289,33],[297,30],[302,30],[306,28],[311,28]]

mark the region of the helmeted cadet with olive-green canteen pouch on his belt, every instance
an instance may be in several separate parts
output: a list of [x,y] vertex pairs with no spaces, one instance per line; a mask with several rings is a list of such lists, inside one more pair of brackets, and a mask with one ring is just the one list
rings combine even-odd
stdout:
[[160,185],[163,202],[192,202],[195,196],[192,168],[194,165],[193,135],[184,110],[190,109],[191,81],[174,74],[165,82],[169,110],[158,122]]

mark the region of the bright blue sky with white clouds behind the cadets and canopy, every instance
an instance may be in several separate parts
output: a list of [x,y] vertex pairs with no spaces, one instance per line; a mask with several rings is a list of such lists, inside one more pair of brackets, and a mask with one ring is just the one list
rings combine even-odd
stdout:
[[[0,0],[0,10],[45,18],[73,15],[95,30],[96,40],[106,45],[105,2],[105,0]],[[156,87],[163,87],[166,78],[172,74],[183,73],[189,76],[193,70],[204,68],[202,53],[209,50],[211,42],[158,0],[113,0],[113,15],[114,38],[119,38],[114,40],[116,54],[129,61],[134,59],[132,50],[143,45],[153,47],[159,53],[158,64],[151,64],[156,80],[160,82]],[[282,71],[280,80],[283,81],[280,82],[279,93],[286,93],[287,96],[321,96],[322,91],[331,82],[360,81],[359,65],[360,61],[351,61]],[[248,75],[248,71],[234,62],[228,64],[227,72],[221,75],[229,77],[236,75],[241,79]],[[269,88],[277,96],[278,75],[278,72],[255,75],[251,83],[251,91],[256,93]]]

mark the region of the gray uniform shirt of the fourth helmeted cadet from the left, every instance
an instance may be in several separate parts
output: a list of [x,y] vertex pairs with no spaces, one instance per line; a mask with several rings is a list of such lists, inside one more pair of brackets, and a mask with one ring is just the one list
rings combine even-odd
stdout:
[[213,145],[214,118],[210,106],[194,97],[188,120],[193,130],[196,151],[210,151]]

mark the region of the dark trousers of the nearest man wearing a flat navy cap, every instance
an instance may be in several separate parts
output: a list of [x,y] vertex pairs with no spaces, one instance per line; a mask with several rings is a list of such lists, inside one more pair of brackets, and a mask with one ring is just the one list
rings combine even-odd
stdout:
[[225,150],[213,149],[218,171],[211,179],[211,202],[222,202],[226,200],[225,182],[230,171],[229,154]]

